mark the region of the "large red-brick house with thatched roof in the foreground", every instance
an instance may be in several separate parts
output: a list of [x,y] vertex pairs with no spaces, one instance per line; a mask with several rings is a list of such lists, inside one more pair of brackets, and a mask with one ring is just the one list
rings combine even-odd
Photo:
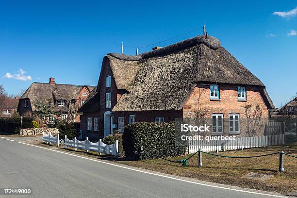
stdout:
[[193,116],[200,108],[216,123],[214,135],[238,134],[236,122],[223,129],[220,120],[244,117],[246,104],[260,105],[264,117],[274,108],[264,84],[215,37],[201,35],[154,49],[104,57],[96,91],[79,110],[84,137],[123,132],[138,121]]

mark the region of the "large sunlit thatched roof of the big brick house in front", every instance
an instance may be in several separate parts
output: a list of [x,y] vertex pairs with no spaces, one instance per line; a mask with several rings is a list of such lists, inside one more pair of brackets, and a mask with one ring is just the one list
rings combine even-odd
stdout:
[[274,108],[264,84],[212,36],[197,36],[136,56],[110,53],[105,59],[117,88],[128,90],[113,111],[180,110],[199,82],[259,86],[268,108]]

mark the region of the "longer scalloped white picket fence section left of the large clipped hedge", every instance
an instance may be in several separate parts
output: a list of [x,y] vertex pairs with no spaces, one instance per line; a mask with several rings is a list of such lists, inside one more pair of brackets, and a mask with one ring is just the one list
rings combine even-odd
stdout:
[[101,139],[99,139],[99,142],[91,142],[89,141],[89,138],[87,137],[86,140],[79,141],[74,137],[74,139],[69,140],[67,136],[65,135],[65,148],[71,147],[77,149],[85,150],[86,152],[94,151],[110,155],[118,156],[118,141],[115,140],[115,144],[107,145],[104,144]]

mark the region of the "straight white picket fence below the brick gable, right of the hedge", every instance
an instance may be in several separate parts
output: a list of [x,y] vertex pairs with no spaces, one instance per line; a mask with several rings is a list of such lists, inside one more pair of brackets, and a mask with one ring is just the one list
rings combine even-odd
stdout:
[[261,135],[253,137],[236,137],[236,140],[189,140],[188,152],[195,153],[199,149],[204,152],[258,148],[285,144],[284,134]]

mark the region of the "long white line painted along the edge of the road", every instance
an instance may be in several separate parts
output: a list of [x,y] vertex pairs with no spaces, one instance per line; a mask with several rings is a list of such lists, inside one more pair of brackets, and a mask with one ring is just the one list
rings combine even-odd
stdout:
[[243,192],[243,193],[264,195],[264,196],[270,196],[270,197],[276,197],[276,198],[288,198],[286,196],[281,196],[281,195],[258,193],[258,192],[253,192],[253,191],[233,189],[233,188],[227,188],[227,187],[222,187],[222,186],[214,186],[214,185],[210,185],[210,184],[206,184],[206,183],[199,183],[199,182],[195,182],[195,181],[182,180],[182,179],[179,179],[179,178],[174,178],[174,177],[170,177],[170,176],[166,176],[166,175],[160,175],[160,174],[157,174],[157,173],[151,173],[151,172],[147,172],[147,171],[143,171],[143,170],[137,170],[137,169],[125,167],[125,166],[122,166],[122,165],[115,165],[115,164],[111,164],[111,163],[108,163],[108,162],[103,162],[101,160],[95,160],[95,159],[91,159],[91,158],[87,158],[87,157],[83,157],[83,156],[79,156],[79,155],[74,155],[74,154],[66,153],[66,152],[59,151],[59,150],[53,150],[51,148],[39,147],[39,146],[36,146],[36,145],[31,145],[31,144],[24,143],[24,142],[17,142],[17,143],[29,145],[29,146],[32,146],[32,147],[43,148],[43,149],[51,150],[51,151],[54,151],[54,152],[63,153],[63,154],[71,155],[71,156],[74,156],[74,157],[79,157],[79,158],[86,159],[86,160],[91,160],[91,161],[95,161],[95,162],[99,162],[99,163],[103,163],[103,164],[107,164],[107,165],[113,165],[113,166],[129,169],[129,170],[133,170],[133,171],[137,171],[137,172],[141,172],[141,173],[146,173],[146,174],[149,174],[149,175],[155,175],[155,176],[159,176],[159,177],[169,178],[169,179],[172,179],[172,180],[184,181],[184,182],[188,182],[188,183],[194,183],[194,184],[198,184],[198,185],[209,186],[209,187],[214,187],[214,188],[220,188],[220,189],[225,189],[225,190],[238,191],[238,192]]

